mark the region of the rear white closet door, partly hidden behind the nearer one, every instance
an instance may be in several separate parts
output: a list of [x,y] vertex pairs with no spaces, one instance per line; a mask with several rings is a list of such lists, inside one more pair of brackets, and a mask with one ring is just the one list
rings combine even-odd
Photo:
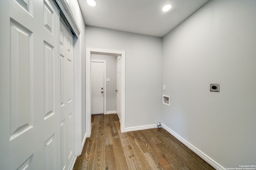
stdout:
[[61,166],[69,169],[74,158],[73,35],[60,20],[60,131]]

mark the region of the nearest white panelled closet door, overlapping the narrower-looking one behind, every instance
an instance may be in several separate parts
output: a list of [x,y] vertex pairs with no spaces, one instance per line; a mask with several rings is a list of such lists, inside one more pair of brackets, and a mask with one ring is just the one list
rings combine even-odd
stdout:
[[9,22],[1,23],[10,36],[10,55],[1,68],[8,82],[1,88],[10,94],[1,105],[8,153],[0,155],[9,156],[1,168],[60,169],[58,8],[52,0],[8,2]]

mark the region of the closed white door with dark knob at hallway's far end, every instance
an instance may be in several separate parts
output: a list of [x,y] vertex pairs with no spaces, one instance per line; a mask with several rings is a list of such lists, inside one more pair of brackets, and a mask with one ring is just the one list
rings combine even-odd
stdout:
[[91,62],[92,114],[104,113],[104,70],[103,62]]

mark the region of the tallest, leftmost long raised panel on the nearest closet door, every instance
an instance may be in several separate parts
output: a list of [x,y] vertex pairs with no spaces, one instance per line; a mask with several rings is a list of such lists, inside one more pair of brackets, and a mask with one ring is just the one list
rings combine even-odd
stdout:
[[31,108],[31,32],[10,22],[10,140],[33,127]]

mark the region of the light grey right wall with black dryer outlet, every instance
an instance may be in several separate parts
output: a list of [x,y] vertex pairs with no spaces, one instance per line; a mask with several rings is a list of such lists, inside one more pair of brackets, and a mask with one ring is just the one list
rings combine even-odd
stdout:
[[162,122],[225,168],[256,162],[255,30],[255,0],[211,0],[163,37]]

